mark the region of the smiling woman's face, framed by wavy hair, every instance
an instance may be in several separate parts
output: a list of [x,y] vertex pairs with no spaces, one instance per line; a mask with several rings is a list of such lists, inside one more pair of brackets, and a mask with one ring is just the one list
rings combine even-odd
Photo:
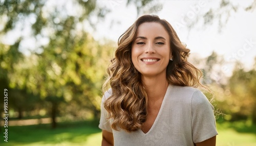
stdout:
[[171,56],[169,35],[158,22],[144,22],[132,45],[132,62],[142,76],[166,75]]

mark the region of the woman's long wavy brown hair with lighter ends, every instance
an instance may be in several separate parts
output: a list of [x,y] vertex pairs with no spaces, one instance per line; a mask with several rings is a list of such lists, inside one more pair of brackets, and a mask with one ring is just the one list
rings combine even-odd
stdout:
[[173,61],[169,61],[166,79],[169,84],[178,86],[204,87],[200,83],[202,72],[187,62],[190,50],[182,44],[173,27],[156,15],[143,15],[127,29],[118,39],[115,57],[107,71],[109,78],[103,85],[112,88],[111,96],[104,102],[104,108],[112,118],[114,130],[123,129],[127,132],[140,129],[147,116],[147,94],[141,81],[140,72],[132,63],[132,44],[138,27],[144,22],[160,23],[169,35],[170,50]]

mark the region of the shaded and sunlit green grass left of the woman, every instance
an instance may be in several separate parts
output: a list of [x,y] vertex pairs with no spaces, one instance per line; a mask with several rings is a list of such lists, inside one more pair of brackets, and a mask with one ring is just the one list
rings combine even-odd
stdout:
[[8,142],[1,138],[0,145],[100,145],[101,130],[97,126],[98,121],[59,123],[56,129],[49,124],[13,126],[8,127]]

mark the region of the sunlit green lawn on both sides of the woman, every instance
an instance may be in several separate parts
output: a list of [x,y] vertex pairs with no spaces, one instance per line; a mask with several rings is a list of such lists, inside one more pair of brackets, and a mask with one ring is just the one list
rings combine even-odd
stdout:
[[[101,130],[97,125],[98,121],[95,120],[59,123],[58,128],[54,130],[48,124],[13,126],[8,128],[8,142],[4,142],[1,138],[0,145],[100,145]],[[218,123],[217,127],[219,132],[217,145],[256,145],[256,126],[246,126],[244,122],[236,122]]]

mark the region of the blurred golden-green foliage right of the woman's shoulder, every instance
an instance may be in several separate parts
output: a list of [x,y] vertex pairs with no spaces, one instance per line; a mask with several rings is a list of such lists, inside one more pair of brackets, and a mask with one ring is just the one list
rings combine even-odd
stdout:
[[201,66],[204,73],[203,83],[212,91],[212,94],[206,93],[206,96],[209,100],[214,100],[212,104],[215,106],[217,118],[219,115],[225,120],[248,119],[256,123],[255,66],[245,70],[243,64],[237,62],[231,77],[227,77],[222,69],[230,64],[215,52],[207,58],[195,59],[194,63]]

